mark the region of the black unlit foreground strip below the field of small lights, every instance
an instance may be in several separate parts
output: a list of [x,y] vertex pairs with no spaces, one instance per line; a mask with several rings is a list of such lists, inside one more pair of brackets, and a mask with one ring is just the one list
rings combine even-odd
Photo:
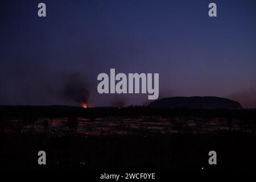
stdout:
[[[1,135],[1,169],[231,170],[254,169],[255,136],[239,133],[58,137]],[[38,165],[38,151],[47,165]],[[208,152],[217,152],[217,165]],[[204,168],[204,169],[202,169]]]

